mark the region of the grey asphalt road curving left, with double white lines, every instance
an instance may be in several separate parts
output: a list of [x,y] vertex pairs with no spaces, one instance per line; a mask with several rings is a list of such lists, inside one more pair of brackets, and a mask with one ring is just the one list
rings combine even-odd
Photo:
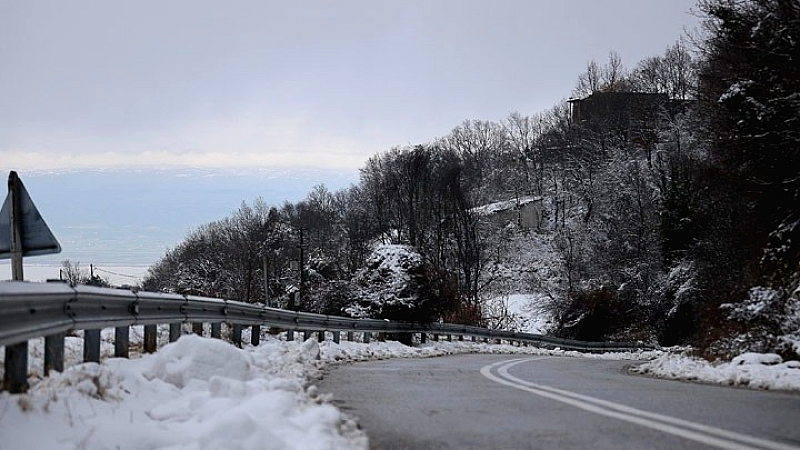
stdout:
[[372,449],[800,449],[800,395],[629,375],[623,361],[393,359],[319,384]]

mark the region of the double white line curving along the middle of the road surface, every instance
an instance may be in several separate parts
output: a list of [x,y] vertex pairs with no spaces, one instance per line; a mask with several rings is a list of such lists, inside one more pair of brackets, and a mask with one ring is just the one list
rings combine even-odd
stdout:
[[[512,359],[490,364],[481,368],[481,374],[500,384],[527,391],[541,397],[549,398],[561,403],[575,406],[584,411],[589,411],[606,417],[623,420],[643,427],[658,430],[664,433],[690,439],[702,444],[724,449],[769,449],[769,450],[799,450],[780,442],[769,441],[753,436],[748,436],[735,431],[723,430],[708,425],[696,424],[663,414],[652,413],[641,409],[632,408],[620,403],[589,397],[575,392],[556,389],[530,381],[522,380],[508,373],[508,370],[521,363],[547,359],[549,357]],[[496,370],[497,374],[492,371]]]

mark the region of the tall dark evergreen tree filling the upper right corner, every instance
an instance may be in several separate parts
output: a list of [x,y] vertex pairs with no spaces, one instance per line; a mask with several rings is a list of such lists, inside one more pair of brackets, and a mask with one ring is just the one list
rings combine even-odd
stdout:
[[[800,4],[794,0],[708,0],[702,100],[714,168],[753,217],[754,250],[783,230],[800,201]],[[786,255],[794,256],[795,255]],[[785,260],[785,258],[782,258]],[[797,259],[790,262],[795,271]],[[776,268],[777,269],[777,268]],[[778,274],[775,274],[778,275]]]

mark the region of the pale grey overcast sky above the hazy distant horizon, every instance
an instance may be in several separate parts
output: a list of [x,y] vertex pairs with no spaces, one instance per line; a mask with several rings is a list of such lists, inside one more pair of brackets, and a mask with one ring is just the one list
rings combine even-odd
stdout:
[[694,3],[0,0],[0,169],[356,169],[661,54]]

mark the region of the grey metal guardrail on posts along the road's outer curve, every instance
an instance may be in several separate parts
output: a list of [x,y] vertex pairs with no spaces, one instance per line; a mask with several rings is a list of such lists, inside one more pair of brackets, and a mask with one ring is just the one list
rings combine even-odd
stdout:
[[[421,333],[423,340],[426,334],[435,338],[446,335],[450,339],[470,336],[578,351],[653,349],[637,343],[583,342],[449,323],[351,319],[196,296],[13,281],[0,283],[0,345],[6,346],[4,384],[12,392],[26,389],[29,339],[45,337],[45,370],[63,370],[64,333],[69,330],[85,330],[84,360],[99,361],[101,329],[116,328],[115,355],[127,356],[130,326],[145,325],[144,349],[155,351],[155,325],[170,324],[172,341],[180,335],[179,327],[184,322],[211,323],[214,337],[220,336],[220,324],[227,323],[233,327],[232,336],[237,344],[241,344],[242,326],[270,326],[288,330],[290,339],[295,330],[305,331],[306,337],[312,331],[330,331],[337,342],[339,333],[344,331],[350,339],[350,333],[363,333],[365,342],[373,332],[382,332]],[[257,334],[251,337],[255,345]]]

